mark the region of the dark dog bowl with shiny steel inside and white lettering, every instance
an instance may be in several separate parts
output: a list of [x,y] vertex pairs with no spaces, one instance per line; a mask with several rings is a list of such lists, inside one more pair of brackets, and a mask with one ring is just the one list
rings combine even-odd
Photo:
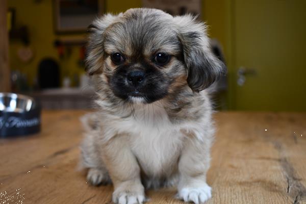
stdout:
[[32,97],[0,93],[0,137],[38,133],[40,112],[39,104]]

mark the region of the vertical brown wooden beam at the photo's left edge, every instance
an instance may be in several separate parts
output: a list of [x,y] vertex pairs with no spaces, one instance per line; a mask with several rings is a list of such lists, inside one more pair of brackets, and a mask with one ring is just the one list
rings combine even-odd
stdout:
[[0,92],[11,91],[7,0],[0,0]]

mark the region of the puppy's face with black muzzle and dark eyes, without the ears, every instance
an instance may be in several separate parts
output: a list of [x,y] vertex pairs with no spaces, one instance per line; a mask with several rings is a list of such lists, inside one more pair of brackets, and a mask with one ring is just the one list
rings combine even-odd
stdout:
[[104,73],[116,96],[151,103],[166,96],[177,78],[187,83],[182,46],[170,26],[127,15],[105,31]]

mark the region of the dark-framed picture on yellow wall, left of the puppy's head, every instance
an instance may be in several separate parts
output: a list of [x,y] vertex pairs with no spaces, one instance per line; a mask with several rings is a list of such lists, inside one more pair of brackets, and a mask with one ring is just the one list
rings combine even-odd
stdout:
[[86,32],[92,20],[103,12],[104,0],[54,0],[55,32]]

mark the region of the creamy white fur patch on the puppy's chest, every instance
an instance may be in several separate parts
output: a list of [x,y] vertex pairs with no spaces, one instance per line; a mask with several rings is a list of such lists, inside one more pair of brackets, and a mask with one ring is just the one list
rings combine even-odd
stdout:
[[149,177],[169,177],[176,171],[184,135],[158,105],[135,107],[133,117],[123,120],[129,142],[142,172]]

